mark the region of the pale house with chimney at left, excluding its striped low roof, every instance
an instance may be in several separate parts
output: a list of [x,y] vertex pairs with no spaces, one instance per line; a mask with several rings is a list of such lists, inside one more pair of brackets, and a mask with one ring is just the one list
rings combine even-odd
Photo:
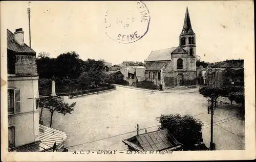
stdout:
[[[7,30],[9,149],[39,141],[36,52],[24,43],[24,32]],[[25,124],[26,123],[26,124]]]

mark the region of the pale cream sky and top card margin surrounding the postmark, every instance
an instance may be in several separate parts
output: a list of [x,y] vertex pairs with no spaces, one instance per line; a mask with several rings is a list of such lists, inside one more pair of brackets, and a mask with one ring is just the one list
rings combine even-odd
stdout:
[[[144,62],[152,50],[179,45],[188,7],[196,33],[196,55],[202,61],[245,59],[254,53],[252,1],[143,2],[150,13],[148,31],[129,44],[118,43],[106,35],[104,18],[106,10],[120,17],[120,9],[115,7],[131,10],[136,6],[135,1],[31,2],[32,49],[37,53],[49,52],[52,58],[76,51],[82,60],[103,59],[113,65],[122,61]],[[1,2],[1,28],[12,32],[23,28],[25,43],[29,45],[28,4],[26,1]]]

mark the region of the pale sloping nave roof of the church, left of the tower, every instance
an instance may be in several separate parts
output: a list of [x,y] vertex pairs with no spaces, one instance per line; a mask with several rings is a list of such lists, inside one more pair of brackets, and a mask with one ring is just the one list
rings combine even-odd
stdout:
[[166,48],[166,49],[159,49],[159,50],[153,50],[150,53],[150,56],[147,57],[145,62],[147,61],[163,61],[163,60],[172,60],[171,53],[176,49],[177,47],[172,48]]

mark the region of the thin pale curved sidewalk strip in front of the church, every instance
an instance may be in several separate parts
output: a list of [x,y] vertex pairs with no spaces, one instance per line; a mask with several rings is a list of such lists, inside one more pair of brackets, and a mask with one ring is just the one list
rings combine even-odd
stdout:
[[123,88],[130,88],[130,89],[135,89],[135,90],[140,90],[140,91],[149,91],[149,92],[156,92],[156,93],[197,93],[198,88],[193,88],[193,89],[188,89],[188,90],[149,90],[149,89],[143,89],[143,88],[136,88],[136,87],[131,87],[131,86],[122,86],[122,85],[116,85],[113,84],[117,87],[123,87]]

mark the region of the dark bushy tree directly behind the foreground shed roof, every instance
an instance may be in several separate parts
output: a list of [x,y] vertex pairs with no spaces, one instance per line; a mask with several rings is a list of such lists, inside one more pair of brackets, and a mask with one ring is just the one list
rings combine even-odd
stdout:
[[170,114],[161,115],[156,120],[161,124],[158,129],[167,128],[184,145],[185,150],[190,150],[194,144],[202,142],[203,123],[198,119],[188,115]]

